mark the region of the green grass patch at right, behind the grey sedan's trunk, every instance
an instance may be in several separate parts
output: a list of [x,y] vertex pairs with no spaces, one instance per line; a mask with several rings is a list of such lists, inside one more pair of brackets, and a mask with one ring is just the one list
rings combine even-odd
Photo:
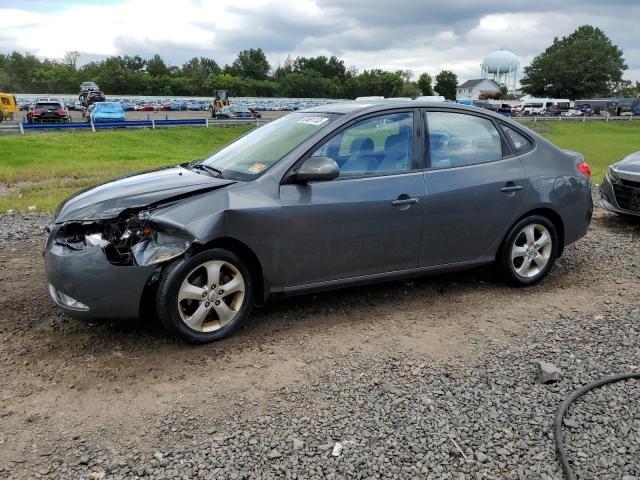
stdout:
[[584,155],[591,165],[594,183],[600,183],[607,167],[640,150],[640,122],[523,122],[555,145]]

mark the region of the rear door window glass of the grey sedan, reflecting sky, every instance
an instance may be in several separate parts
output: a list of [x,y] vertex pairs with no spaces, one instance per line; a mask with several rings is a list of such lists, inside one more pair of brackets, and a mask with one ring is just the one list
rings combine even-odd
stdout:
[[431,168],[493,162],[503,156],[502,140],[493,122],[457,112],[427,112]]

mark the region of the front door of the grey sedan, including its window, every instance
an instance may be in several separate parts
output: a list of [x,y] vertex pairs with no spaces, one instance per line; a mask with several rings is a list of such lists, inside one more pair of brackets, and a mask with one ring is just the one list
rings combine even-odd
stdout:
[[413,110],[342,130],[312,156],[340,166],[331,181],[282,185],[285,287],[415,268],[424,212]]

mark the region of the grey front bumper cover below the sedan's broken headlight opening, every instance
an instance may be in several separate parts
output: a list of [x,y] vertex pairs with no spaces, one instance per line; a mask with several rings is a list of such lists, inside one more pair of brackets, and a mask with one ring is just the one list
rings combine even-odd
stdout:
[[[116,266],[109,263],[100,247],[82,250],[48,242],[44,252],[45,271],[54,302],[81,319],[124,319],[140,316],[145,287],[158,267]],[[70,308],[60,295],[80,302],[86,309]]]

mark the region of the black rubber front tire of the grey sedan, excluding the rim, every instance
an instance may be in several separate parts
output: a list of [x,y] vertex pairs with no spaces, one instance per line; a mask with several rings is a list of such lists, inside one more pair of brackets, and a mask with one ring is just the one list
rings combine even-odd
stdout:
[[[200,265],[210,261],[223,261],[234,266],[244,281],[244,298],[233,319],[217,330],[202,332],[189,327],[181,318],[178,308],[178,293],[187,276]],[[222,284],[221,286],[224,286]],[[219,288],[219,287],[218,287]],[[188,258],[175,260],[164,272],[156,299],[158,318],[164,327],[174,335],[189,343],[208,343],[231,335],[244,324],[253,306],[253,285],[249,268],[235,253],[221,248],[214,248],[197,253]]]

